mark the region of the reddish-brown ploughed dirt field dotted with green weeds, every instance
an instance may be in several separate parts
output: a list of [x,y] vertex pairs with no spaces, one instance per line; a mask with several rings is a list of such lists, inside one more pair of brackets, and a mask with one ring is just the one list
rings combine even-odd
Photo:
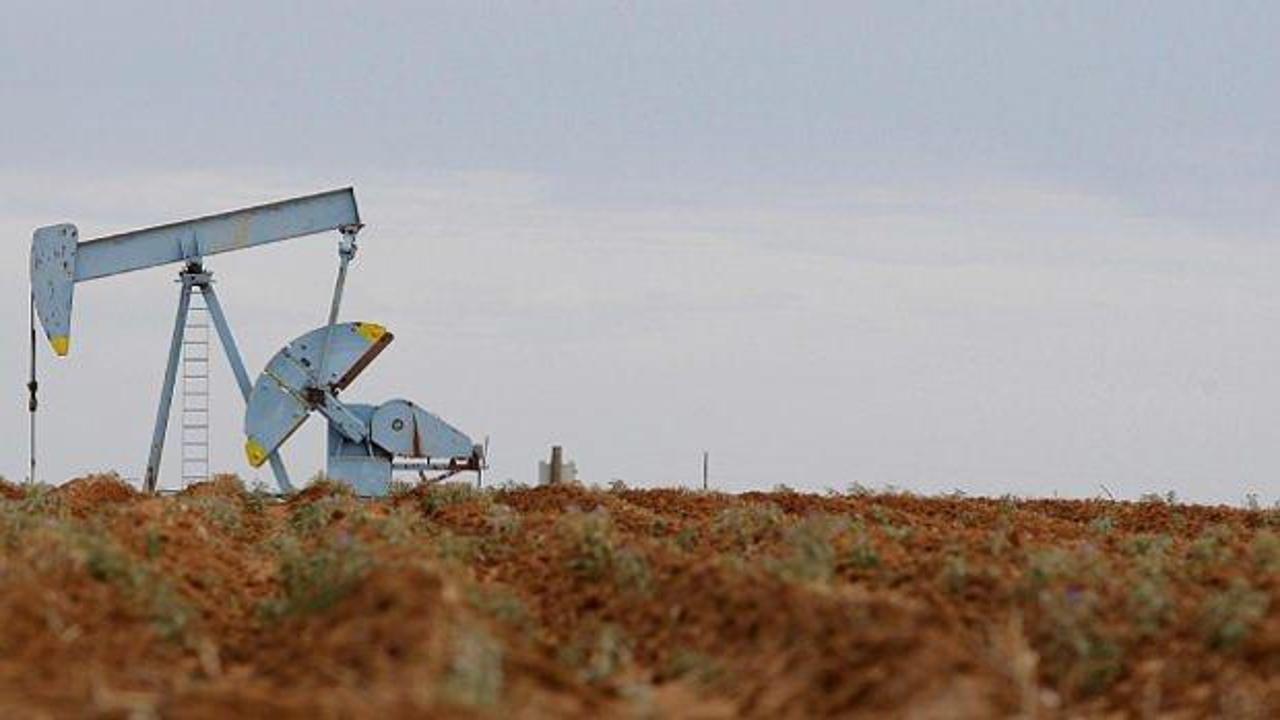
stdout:
[[5,717],[1275,717],[1280,511],[0,487]]

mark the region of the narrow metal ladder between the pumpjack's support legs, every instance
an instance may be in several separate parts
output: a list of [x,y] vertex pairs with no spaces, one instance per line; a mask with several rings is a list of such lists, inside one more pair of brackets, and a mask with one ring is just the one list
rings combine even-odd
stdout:
[[[198,301],[196,299],[200,299]],[[182,340],[182,487],[209,479],[209,306],[191,293]]]

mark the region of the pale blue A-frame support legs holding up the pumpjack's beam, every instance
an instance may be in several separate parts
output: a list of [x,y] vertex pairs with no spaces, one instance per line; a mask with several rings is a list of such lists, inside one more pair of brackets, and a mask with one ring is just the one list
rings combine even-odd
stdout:
[[[182,340],[187,328],[187,314],[191,310],[191,293],[193,290],[200,290],[205,297],[205,305],[209,306],[209,316],[214,322],[219,343],[223,346],[223,354],[227,355],[227,361],[232,366],[232,374],[236,375],[236,383],[239,386],[241,395],[246,402],[248,402],[248,395],[253,389],[248,379],[248,372],[244,370],[244,361],[241,359],[239,350],[236,346],[236,338],[232,336],[232,328],[227,323],[227,315],[223,314],[223,306],[214,292],[212,273],[205,270],[198,260],[189,261],[178,273],[178,282],[182,283],[182,290],[178,295],[178,314],[173,322],[173,338],[169,343],[169,364],[165,366],[164,386],[160,388],[160,406],[156,409],[156,425],[155,432],[151,434],[151,454],[147,456],[147,470],[142,479],[142,484],[148,493],[156,491],[156,482],[160,477],[160,457],[164,454],[164,438],[169,429],[173,386],[178,378],[178,360],[182,357]],[[275,482],[280,487],[280,492],[293,492],[293,484],[289,483],[289,475],[284,469],[284,461],[280,460],[279,454],[273,452],[270,461],[271,473],[275,475]]]

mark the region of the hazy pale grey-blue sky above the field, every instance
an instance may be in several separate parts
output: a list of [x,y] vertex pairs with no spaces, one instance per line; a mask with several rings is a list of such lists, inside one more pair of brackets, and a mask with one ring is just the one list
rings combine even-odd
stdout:
[[[490,436],[495,480],[558,442],[641,486],[705,448],[728,489],[1280,498],[1274,3],[187,5],[4,4],[12,479],[35,227],[351,183],[344,318],[397,341],[346,397]],[[251,374],[335,246],[209,261]],[[141,475],[175,270],[77,290],[45,479]]]

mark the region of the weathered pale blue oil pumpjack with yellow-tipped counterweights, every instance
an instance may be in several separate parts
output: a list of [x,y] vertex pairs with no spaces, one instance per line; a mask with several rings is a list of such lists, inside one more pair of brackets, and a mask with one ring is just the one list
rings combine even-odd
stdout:
[[[328,477],[349,484],[358,495],[387,495],[394,474],[402,471],[416,473],[426,482],[462,471],[483,471],[484,447],[426,409],[399,398],[380,405],[339,398],[394,338],[376,323],[338,322],[347,270],[356,258],[356,236],[362,227],[355,190],[347,187],[86,241],[79,240],[79,231],[72,223],[36,229],[31,242],[32,372],[28,383],[32,477],[36,318],[54,354],[64,357],[70,351],[72,301],[77,284],[170,264],[180,264],[180,291],[142,478],[147,492],[155,492],[157,486],[195,292],[209,309],[219,343],[244,397],[248,462],[255,468],[270,464],[282,492],[292,492],[293,484],[280,459],[280,447],[312,413],[328,421]],[[205,259],[330,231],[338,231],[339,241],[338,277],[328,322],[285,345],[251,384]]]

